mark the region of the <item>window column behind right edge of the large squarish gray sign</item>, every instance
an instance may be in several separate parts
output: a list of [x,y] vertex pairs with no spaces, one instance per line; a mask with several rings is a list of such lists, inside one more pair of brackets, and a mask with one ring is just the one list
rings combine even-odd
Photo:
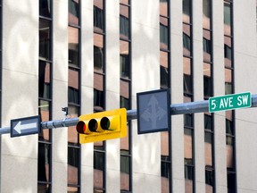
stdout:
[[[170,88],[170,0],[159,1],[160,10],[160,88]],[[161,133],[162,193],[171,192],[170,131]]]

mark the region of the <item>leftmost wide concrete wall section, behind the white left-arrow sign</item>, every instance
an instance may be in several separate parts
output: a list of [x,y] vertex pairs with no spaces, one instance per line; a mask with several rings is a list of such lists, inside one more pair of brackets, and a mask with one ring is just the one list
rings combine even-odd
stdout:
[[[2,126],[37,114],[38,2],[3,2]],[[36,88],[36,89],[35,89]],[[2,136],[1,192],[37,192],[37,135]]]

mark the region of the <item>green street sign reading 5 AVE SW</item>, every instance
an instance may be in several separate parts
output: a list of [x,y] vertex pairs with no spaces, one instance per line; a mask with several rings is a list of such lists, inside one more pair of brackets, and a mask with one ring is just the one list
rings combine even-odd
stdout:
[[209,112],[227,111],[237,108],[251,107],[252,96],[250,92],[209,98]]

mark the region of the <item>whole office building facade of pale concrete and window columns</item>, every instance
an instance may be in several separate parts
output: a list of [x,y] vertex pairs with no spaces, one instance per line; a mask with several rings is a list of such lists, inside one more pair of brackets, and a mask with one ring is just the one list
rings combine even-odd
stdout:
[[[1,126],[257,93],[256,0],[1,0]],[[68,108],[65,108],[68,107]],[[75,125],[1,135],[0,192],[257,192],[257,109],[79,144]]]

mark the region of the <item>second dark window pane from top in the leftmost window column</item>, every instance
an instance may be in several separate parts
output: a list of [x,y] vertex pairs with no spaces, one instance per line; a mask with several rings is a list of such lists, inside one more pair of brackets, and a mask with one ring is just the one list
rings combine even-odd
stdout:
[[50,22],[39,20],[39,58],[50,60]]

